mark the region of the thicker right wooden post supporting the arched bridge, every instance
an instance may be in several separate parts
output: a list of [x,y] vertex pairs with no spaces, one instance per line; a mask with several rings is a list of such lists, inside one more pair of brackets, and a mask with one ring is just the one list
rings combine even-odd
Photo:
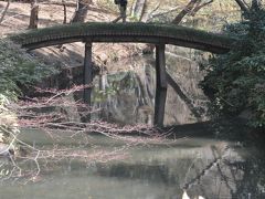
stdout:
[[165,44],[156,45],[156,100],[155,100],[155,118],[153,124],[156,126],[163,126],[165,106],[167,100],[167,72],[166,72],[166,56]]

